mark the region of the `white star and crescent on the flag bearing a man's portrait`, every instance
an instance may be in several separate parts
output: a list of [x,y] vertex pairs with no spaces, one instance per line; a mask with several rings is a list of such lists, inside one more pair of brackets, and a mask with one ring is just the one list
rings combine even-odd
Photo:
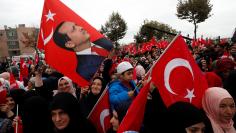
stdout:
[[[49,20],[54,21],[54,18],[53,18],[53,17],[54,17],[55,15],[56,15],[56,13],[52,13],[51,10],[49,9],[48,14],[45,15],[45,16],[47,17],[46,22],[48,22]],[[53,28],[52,28],[51,33],[44,39],[43,29],[41,29],[41,37],[42,37],[42,39],[43,39],[44,45],[46,45],[46,44],[52,39],[52,37],[53,37],[53,32],[54,32],[54,31],[53,31]]]

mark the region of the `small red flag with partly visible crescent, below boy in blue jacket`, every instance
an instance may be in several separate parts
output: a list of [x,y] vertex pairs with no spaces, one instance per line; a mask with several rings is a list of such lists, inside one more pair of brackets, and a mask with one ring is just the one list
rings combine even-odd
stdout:
[[107,89],[108,88],[103,91],[102,95],[88,115],[88,119],[95,125],[98,133],[106,133],[106,131],[111,127],[109,93]]

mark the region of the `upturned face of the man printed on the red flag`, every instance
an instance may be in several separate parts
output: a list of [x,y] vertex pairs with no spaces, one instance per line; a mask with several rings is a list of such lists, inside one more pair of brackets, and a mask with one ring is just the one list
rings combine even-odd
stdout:
[[[90,35],[83,27],[75,24],[74,22],[65,22],[59,29],[60,33],[67,34],[71,39],[70,48],[75,48],[83,43],[86,43],[90,39]],[[66,46],[68,47],[68,46]]]

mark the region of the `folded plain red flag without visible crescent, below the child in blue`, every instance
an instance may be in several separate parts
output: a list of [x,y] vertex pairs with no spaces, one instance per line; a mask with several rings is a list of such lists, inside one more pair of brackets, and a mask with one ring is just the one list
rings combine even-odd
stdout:
[[150,81],[141,89],[138,96],[130,105],[127,114],[123,118],[117,133],[139,132],[143,122],[147,95],[150,87]]

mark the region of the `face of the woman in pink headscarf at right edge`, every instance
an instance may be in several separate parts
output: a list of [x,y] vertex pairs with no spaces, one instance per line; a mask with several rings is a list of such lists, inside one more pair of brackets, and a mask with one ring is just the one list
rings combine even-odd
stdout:
[[229,123],[235,114],[235,103],[233,98],[224,98],[219,105],[219,121]]

